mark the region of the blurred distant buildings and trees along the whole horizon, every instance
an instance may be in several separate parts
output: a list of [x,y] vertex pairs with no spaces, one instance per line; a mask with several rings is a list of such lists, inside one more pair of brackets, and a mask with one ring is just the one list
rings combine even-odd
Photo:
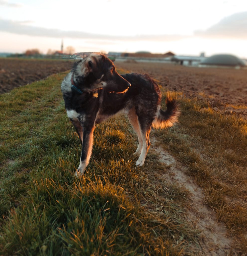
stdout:
[[[175,65],[193,66],[193,67],[234,67],[246,68],[247,60],[240,59],[231,54],[217,54],[213,56],[205,56],[202,52],[199,56],[182,56],[168,51],[164,54],[154,54],[148,51],[129,52],[108,52],[106,54],[112,61],[132,61],[132,62],[160,62],[174,63]],[[72,46],[66,47],[64,50],[63,41],[60,50],[47,51],[42,54],[38,49],[26,50],[23,54],[7,54],[0,53],[0,57],[21,57],[21,58],[51,58],[51,59],[81,59],[80,54],[75,54]]]

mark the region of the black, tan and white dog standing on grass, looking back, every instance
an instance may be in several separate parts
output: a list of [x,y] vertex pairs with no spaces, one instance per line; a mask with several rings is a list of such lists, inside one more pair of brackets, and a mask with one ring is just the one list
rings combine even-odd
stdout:
[[92,53],[76,62],[64,78],[61,91],[67,115],[82,144],[76,176],[82,175],[89,163],[96,124],[117,113],[126,113],[138,135],[134,154],[140,156],[136,165],[142,166],[150,147],[151,127],[172,126],[180,114],[177,102],[169,98],[166,111],[160,109],[161,93],[152,78],[134,73],[120,76],[103,54]]

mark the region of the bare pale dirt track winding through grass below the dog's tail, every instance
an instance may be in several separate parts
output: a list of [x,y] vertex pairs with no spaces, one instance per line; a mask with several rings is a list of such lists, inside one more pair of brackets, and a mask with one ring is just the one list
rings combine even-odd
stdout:
[[[202,241],[201,252],[210,256],[225,256],[230,254],[231,246],[234,243],[229,236],[224,223],[218,222],[215,212],[205,205],[205,194],[203,189],[194,183],[187,174],[186,167],[177,161],[169,152],[164,151],[158,144],[158,139],[150,137],[151,148],[158,155],[159,161],[171,165],[168,173],[154,173],[155,177],[162,182],[179,183],[190,191],[190,208],[187,211],[188,220],[195,223],[201,230]],[[193,246],[192,246],[193,247]],[[199,250],[200,250],[199,248]]]

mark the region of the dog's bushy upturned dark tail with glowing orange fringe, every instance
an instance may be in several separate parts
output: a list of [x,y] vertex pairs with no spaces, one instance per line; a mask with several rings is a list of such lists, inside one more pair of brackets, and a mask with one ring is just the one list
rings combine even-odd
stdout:
[[171,99],[169,96],[166,98],[166,111],[158,108],[155,119],[153,121],[153,127],[166,128],[172,126],[178,121],[180,115],[179,105],[175,99]]

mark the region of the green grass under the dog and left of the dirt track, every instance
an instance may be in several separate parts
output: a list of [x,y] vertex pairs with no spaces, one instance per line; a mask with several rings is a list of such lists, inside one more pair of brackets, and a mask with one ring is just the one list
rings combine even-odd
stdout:
[[152,153],[135,167],[137,137],[124,117],[97,126],[85,176],[73,176],[80,142],[64,76],[0,96],[0,255],[200,254],[188,191],[154,183],[167,166]]

